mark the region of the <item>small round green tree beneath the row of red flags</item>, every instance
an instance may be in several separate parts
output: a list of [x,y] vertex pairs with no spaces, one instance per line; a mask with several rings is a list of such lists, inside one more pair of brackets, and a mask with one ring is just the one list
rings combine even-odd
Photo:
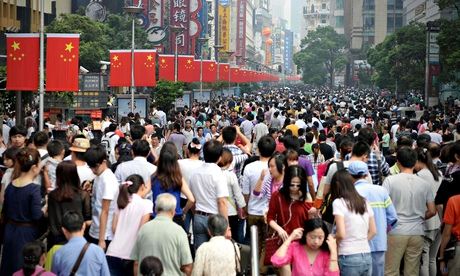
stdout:
[[152,101],[161,110],[170,110],[174,101],[184,95],[184,83],[160,80],[152,91]]

